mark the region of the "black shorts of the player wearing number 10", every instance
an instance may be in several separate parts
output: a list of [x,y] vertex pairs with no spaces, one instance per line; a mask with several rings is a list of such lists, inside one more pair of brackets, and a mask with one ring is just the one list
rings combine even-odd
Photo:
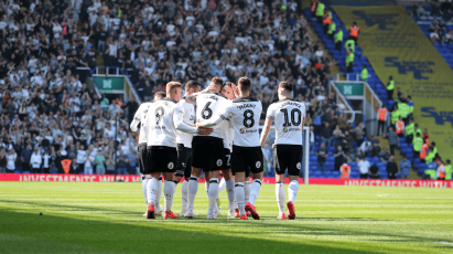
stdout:
[[273,145],[273,168],[277,174],[288,170],[290,176],[299,176],[302,167],[301,145]]

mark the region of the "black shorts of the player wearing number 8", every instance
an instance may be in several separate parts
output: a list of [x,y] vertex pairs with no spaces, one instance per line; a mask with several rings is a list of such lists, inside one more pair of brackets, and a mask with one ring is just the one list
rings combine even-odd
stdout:
[[231,170],[234,172],[260,173],[263,171],[261,147],[233,146]]

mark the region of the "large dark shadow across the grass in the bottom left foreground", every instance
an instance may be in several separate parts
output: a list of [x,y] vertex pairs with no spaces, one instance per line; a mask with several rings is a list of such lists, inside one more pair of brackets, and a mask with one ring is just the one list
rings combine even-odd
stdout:
[[[30,250],[60,253],[80,248],[84,253],[374,253],[369,247],[350,250],[357,246],[341,242],[328,242],[326,246],[321,241],[281,242],[225,235],[225,232],[218,235],[211,229],[192,230],[187,225],[175,230],[176,221],[159,222],[137,225],[0,210],[0,243],[6,253],[30,253]],[[284,236],[276,236],[279,237]]]

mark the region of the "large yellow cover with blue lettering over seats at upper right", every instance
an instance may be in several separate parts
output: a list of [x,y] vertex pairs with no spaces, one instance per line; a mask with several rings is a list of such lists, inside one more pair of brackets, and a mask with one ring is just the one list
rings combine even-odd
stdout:
[[[413,117],[442,158],[453,150],[453,71],[403,7],[333,7],[346,28],[357,22],[358,45],[382,84],[412,96]],[[354,93],[352,87],[346,92]],[[393,96],[396,96],[396,92]],[[450,158],[451,159],[451,158]]]

